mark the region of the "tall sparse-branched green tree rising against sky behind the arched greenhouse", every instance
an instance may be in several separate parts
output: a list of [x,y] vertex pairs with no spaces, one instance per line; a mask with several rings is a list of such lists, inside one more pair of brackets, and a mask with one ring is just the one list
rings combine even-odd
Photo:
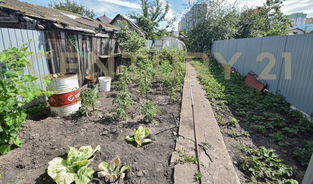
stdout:
[[[163,7],[163,3],[160,0],[154,0],[149,2],[149,0],[141,0],[141,13],[128,13],[128,17],[132,20],[135,20],[137,25],[140,25],[140,28],[146,32],[147,38],[154,40],[163,36],[172,36],[171,32],[167,32],[167,28],[172,28],[173,23],[176,21],[176,17],[171,19],[165,18],[168,14],[170,6],[168,1]],[[159,29],[160,22],[167,21],[165,29]]]

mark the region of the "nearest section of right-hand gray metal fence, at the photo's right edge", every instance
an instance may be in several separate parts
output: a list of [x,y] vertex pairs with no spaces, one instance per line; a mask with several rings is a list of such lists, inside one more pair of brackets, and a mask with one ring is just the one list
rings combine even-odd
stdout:
[[286,101],[302,111],[313,112],[313,34],[290,35],[285,52],[291,53],[291,80],[285,79],[285,58],[278,90]]

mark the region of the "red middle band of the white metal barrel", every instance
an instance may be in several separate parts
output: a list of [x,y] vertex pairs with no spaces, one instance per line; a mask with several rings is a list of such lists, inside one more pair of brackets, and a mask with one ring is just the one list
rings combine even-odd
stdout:
[[50,107],[66,107],[69,105],[73,105],[80,101],[80,91],[72,91],[68,93],[62,94],[54,94],[49,97],[49,105]]

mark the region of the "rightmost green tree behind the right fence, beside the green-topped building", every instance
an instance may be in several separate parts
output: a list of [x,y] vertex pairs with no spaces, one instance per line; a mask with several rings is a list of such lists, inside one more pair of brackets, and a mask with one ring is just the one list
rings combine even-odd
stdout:
[[266,0],[263,6],[258,7],[259,13],[264,19],[262,28],[264,36],[279,36],[289,33],[288,30],[292,27],[291,20],[285,17],[280,9],[284,1]]

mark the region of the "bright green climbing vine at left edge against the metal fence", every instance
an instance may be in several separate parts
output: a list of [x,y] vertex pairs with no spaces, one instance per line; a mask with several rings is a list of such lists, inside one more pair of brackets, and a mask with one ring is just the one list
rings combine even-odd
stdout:
[[[32,40],[30,40],[32,42]],[[10,143],[22,147],[22,140],[17,137],[19,130],[26,122],[27,114],[21,105],[32,102],[38,96],[50,97],[53,92],[43,91],[36,82],[38,79],[30,74],[25,74],[31,68],[28,56],[28,44],[21,47],[8,48],[0,53],[0,153],[5,154],[11,150]],[[49,52],[48,52],[49,53]],[[45,85],[51,80],[43,79]]]

